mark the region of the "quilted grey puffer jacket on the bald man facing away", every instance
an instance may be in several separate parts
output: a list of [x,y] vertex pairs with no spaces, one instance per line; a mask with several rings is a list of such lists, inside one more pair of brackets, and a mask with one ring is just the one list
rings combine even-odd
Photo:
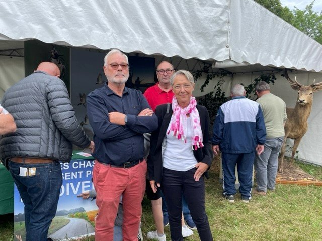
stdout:
[[65,84],[37,71],[9,88],[2,105],[12,114],[17,131],[0,139],[0,158],[33,157],[69,162],[72,143],[90,145],[78,124]]

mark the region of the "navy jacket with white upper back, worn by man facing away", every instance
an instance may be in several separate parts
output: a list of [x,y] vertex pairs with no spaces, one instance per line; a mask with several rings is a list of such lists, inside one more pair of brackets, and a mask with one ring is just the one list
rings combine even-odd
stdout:
[[243,96],[222,104],[213,126],[212,144],[224,153],[251,153],[264,145],[266,129],[260,105]]

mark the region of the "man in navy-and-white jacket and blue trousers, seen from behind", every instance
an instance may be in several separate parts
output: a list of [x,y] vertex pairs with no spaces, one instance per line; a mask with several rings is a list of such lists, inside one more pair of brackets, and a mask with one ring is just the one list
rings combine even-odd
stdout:
[[236,84],[232,99],[220,106],[213,126],[213,151],[222,153],[223,194],[229,202],[234,202],[236,194],[236,164],[241,200],[248,203],[251,199],[255,151],[263,152],[266,139],[262,109],[245,95],[244,86]]

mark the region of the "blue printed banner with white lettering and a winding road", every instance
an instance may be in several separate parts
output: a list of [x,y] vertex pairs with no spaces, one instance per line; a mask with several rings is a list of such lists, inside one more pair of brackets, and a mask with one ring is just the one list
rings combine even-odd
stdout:
[[[94,235],[94,218],[98,207],[95,200],[82,199],[77,195],[94,189],[92,182],[93,159],[71,160],[70,163],[61,163],[63,183],[56,216],[53,219],[48,237],[55,240]],[[14,232],[15,238],[26,238],[24,203],[15,185]]]

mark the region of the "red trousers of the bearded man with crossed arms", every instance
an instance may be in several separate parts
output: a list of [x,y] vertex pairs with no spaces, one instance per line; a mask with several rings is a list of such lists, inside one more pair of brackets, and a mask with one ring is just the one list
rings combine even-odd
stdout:
[[120,196],[123,194],[123,240],[136,241],[142,214],[147,165],[143,161],[125,169],[111,167],[96,160],[93,183],[99,207],[95,224],[95,240],[113,240],[113,227]]

